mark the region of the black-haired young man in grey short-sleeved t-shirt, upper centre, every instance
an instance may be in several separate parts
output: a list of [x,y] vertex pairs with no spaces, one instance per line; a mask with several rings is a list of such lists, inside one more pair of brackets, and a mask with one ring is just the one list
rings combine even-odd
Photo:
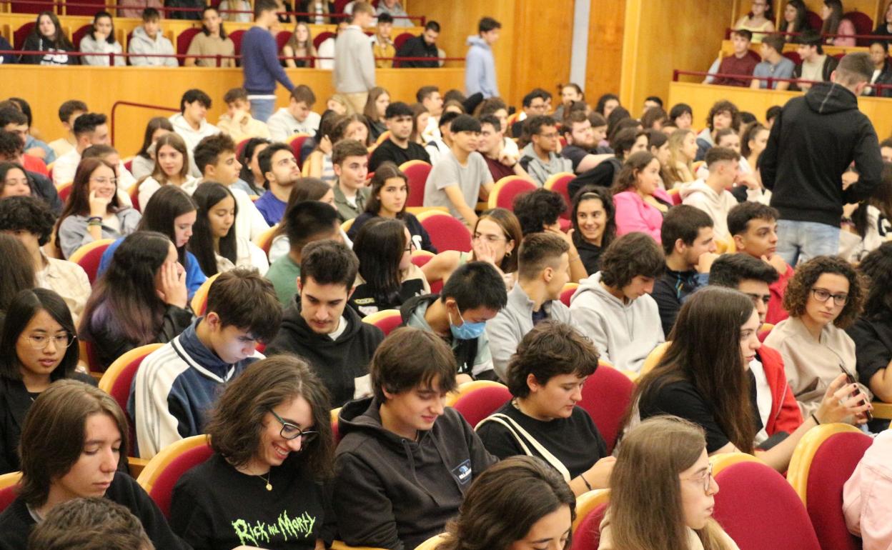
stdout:
[[492,175],[477,152],[480,122],[459,115],[450,126],[452,148],[431,169],[425,182],[425,206],[445,206],[468,227],[475,226],[478,200],[489,196]]

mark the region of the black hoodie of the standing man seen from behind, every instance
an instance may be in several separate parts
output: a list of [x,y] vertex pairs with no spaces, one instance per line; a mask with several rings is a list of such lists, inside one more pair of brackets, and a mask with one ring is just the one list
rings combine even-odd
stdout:
[[[844,192],[842,174],[853,160],[858,183]],[[882,167],[877,133],[855,94],[822,82],[774,119],[760,170],[780,218],[838,227],[842,205],[871,196]]]

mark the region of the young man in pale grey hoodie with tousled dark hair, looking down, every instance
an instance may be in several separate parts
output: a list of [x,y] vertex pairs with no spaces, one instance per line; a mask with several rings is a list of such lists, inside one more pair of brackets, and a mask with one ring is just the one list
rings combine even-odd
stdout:
[[657,344],[665,341],[657,302],[650,296],[663,274],[663,250],[653,237],[629,233],[611,242],[601,270],[579,282],[570,315],[591,338],[601,358],[620,370],[638,372]]

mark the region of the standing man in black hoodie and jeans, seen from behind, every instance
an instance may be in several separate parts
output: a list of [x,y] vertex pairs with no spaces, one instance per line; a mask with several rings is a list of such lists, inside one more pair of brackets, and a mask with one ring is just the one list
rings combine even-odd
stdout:
[[[858,99],[873,73],[867,53],[849,53],[830,75],[795,97],[774,119],[760,166],[780,211],[777,253],[791,266],[839,248],[843,204],[863,201],[880,184],[880,143]],[[843,188],[855,161],[858,182]]]

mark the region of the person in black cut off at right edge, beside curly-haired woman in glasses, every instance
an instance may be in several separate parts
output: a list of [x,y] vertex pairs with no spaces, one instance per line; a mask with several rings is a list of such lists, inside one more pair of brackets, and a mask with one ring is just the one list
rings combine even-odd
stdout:
[[874,396],[892,403],[892,242],[873,250],[858,269],[870,284],[861,316],[847,328],[855,342],[855,368]]

